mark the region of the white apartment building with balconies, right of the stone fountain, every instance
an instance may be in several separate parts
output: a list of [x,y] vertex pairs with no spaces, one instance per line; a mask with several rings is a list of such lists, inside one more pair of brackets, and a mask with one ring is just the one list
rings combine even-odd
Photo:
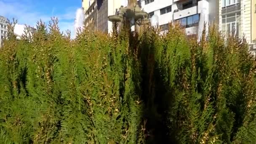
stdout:
[[[123,3],[127,5],[127,2]],[[138,3],[149,13],[150,19],[152,16],[157,17],[158,25],[163,32],[168,30],[168,23],[171,21],[179,21],[181,26],[185,27],[187,35],[200,32],[204,22],[219,22],[218,0],[138,0]]]

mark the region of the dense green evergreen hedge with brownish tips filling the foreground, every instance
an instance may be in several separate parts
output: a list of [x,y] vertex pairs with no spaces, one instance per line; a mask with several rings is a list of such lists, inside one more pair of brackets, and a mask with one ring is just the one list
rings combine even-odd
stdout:
[[[58,19],[0,49],[1,144],[256,142],[256,63],[245,39],[179,24],[112,35]],[[27,35],[29,34],[29,35]]]

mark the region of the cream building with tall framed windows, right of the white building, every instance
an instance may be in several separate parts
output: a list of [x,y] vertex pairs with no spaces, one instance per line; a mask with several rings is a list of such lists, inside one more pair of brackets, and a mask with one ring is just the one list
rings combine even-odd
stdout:
[[235,32],[256,51],[256,0],[219,0],[219,30],[227,37]]

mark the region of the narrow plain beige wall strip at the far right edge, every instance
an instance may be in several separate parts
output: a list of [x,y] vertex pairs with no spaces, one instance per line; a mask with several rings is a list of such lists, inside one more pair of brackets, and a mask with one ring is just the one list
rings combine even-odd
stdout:
[[256,0],[251,3],[251,39],[256,44]]

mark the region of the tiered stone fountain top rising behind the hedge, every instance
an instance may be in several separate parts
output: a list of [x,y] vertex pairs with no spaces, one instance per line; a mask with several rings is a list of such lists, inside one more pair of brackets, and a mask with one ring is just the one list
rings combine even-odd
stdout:
[[113,23],[117,23],[125,18],[130,21],[130,26],[132,26],[134,24],[141,25],[143,21],[144,23],[148,23],[149,20],[147,19],[147,17],[148,13],[141,10],[137,3],[137,0],[128,0],[128,5],[126,7],[121,6],[119,9],[119,13],[108,16],[108,19]]

